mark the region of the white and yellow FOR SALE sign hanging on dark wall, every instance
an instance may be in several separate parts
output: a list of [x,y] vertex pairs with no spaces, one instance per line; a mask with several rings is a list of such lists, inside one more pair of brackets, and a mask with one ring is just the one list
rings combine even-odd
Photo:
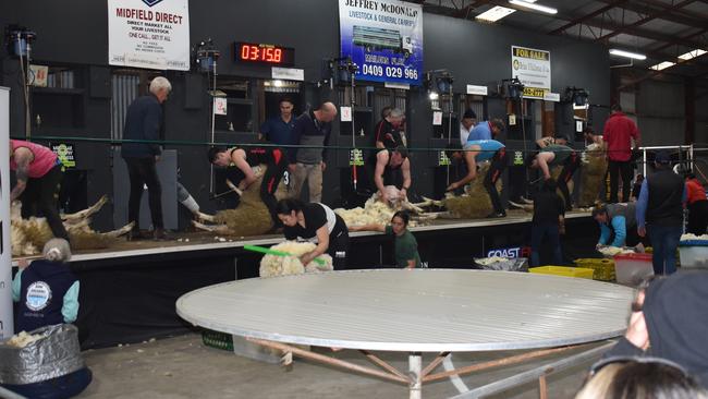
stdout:
[[527,47],[511,47],[511,76],[524,84],[524,97],[544,99],[551,90],[551,53]]

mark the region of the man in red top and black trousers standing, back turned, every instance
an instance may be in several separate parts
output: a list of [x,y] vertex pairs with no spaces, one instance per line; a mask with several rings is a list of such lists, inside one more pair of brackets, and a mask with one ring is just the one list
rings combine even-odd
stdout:
[[627,202],[632,189],[632,141],[634,148],[640,145],[639,130],[633,120],[622,112],[619,104],[612,106],[612,113],[605,123],[602,140],[607,143],[608,169],[610,171],[610,202],[619,202],[620,177],[622,178],[622,201]]

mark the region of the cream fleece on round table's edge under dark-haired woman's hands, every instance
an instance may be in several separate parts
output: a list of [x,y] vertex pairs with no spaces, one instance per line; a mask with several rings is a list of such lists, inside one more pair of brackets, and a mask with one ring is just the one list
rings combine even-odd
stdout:
[[300,256],[312,252],[317,245],[312,242],[285,241],[270,249],[289,253],[292,256],[264,255],[260,259],[260,277],[277,277],[289,275],[302,275],[304,273],[332,270],[332,257],[328,254],[319,255],[317,258],[325,261],[319,265],[315,261],[307,265],[300,262]]

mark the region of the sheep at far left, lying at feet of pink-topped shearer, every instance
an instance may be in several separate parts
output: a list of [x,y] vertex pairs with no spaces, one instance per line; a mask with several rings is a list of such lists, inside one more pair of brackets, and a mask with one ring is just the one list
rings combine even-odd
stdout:
[[[69,233],[73,250],[100,250],[109,247],[120,235],[126,234],[133,223],[105,233],[94,231],[90,227],[90,216],[100,210],[108,202],[103,195],[96,204],[75,214],[62,214],[61,219]],[[13,256],[36,255],[40,249],[53,238],[47,219],[30,217],[22,218],[22,203],[14,202],[11,208],[11,246]]]

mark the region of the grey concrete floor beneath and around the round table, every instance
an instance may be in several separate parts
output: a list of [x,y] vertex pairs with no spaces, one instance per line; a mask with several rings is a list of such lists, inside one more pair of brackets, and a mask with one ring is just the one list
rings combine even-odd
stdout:
[[[317,352],[332,354],[318,348]],[[504,354],[517,352],[504,352]],[[335,358],[369,365],[358,352],[344,350]],[[283,367],[205,347],[198,334],[84,352],[94,380],[78,398],[406,398],[407,387],[340,368],[295,359]],[[383,353],[399,370],[407,368],[402,353]],[[455,353],[455,366],[498,359],[500,352]],[[426,356],[424,364],[432,358]],[[464,376],[468,387],[539,366],[560,356]],[[549,398],[573,398],[591,362],[548,378]],[[442,371],[439,366],[437,371]],[[424,398],[448,398],[459,391],[450,379],[424,385]],[[538,398],[538,384],[527,384],[493,398]]]

